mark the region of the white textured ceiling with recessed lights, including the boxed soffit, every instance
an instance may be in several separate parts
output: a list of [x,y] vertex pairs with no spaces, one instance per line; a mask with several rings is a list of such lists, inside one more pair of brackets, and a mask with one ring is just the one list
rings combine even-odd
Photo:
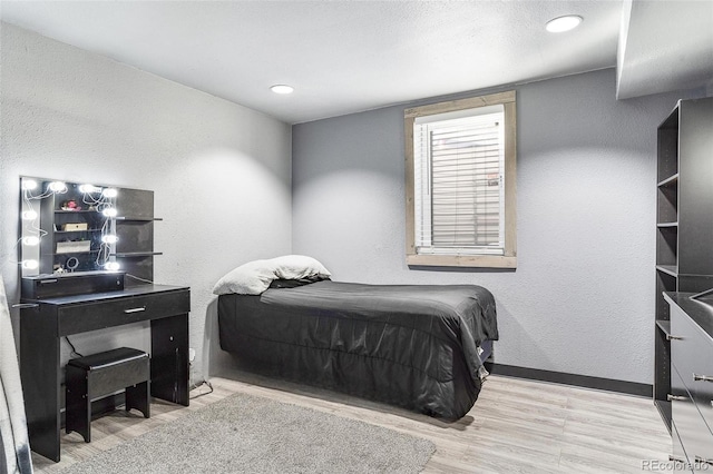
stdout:
[[[653,3],[677,7],[668,9],[673,13],[661,13]],[[661,68],[655,60],[661,60],[655,49],[661,45],[647,46],[651,37],[661,37],[652,28],[685,11],[681,6],[687,3],[699,4],[691,18],[699,19],[695,29],[705,30],[678,32],[688,37],[685,43],[699,45],[695,61],[687,66],[695,71],[655,87],[685,81],[688,87],[710,83],[713,77],[713,60],[706,62],[706,55],[713,57],[713,0],[2,0],[0,16],[296,124],[611,68],[617,66],[617,87],[625,91],[621,97],[663,91],[652,92],[649,75]],[[565,33],[545,30],[548,20],[568,13],[584,18],[579,28]],[[681,56],[676,41],[666,51]],[[275,83],[289,83],[295,91],[275,95],[268,89]]]

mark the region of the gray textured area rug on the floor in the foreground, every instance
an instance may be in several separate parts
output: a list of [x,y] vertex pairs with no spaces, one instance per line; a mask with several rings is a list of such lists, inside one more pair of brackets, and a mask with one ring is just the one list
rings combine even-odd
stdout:
[[392,429],[236,394],[61,473],[418,473],[434,451]]

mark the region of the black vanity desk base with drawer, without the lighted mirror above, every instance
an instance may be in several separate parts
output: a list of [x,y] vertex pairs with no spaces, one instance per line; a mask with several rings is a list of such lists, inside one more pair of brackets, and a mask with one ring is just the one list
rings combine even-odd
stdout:
[[59,462],[64,336],[150,320],[152,395],[188,406],[189,288],[139,285],[68,296],[26,295],[23,290],[20,373],[32,451]]

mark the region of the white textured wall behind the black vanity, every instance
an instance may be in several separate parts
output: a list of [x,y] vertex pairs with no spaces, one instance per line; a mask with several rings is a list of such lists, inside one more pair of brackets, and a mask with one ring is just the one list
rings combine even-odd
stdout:
[[[213,284],[291,248],[291,128],[101,56],[2,26],[0,265],[19,299],[19,176],[155,191],[155,280],[192,289],[201,378]],[[18,330],[18,312],[13,325]],[[206,329],[207,318],[207,329]],[[146,325],[72,337],[77,349],[148,349]],[[64,347],[64,357],[68,348]]]

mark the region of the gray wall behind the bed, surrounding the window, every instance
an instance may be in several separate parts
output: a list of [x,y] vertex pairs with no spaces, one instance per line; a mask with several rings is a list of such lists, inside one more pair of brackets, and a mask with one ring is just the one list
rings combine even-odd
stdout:
[[496,362],[651,384],[656,127],[680,95],[616,101],[613,69],[516,90],[516,271],[406,265],[403,109],[416,103],[293,128],[293,251],[338,280],[482,285],[498,305]]

